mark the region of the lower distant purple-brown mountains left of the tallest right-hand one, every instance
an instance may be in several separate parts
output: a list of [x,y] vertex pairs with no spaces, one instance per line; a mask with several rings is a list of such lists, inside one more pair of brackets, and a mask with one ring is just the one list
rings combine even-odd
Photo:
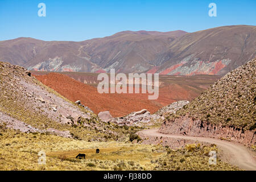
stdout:
[[83,42],[18,38],[0,43],[0,60],[40,71],[109,72],[110,68],[122,68],[143,72],[152,67],[148,60],[155,60],[185,33],[123,31]]

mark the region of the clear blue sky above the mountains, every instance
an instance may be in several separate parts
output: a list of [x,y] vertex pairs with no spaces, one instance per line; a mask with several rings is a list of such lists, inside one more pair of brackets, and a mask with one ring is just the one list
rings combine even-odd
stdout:
[[[210,17],[209,3],[217,17]],[[46,17],[38,4],[46,4]],[[256,25],[256,0],[0,0],[0,40],[31,37],[81,41],[119,31],[195,32],[207,28]]]

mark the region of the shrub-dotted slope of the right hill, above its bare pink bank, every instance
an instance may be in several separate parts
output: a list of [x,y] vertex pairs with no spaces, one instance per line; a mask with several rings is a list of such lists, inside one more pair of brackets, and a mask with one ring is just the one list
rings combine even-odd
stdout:
[[169,121],[189,114],[200,121],[254,130],[256,123],[256,60],[234,69],[215,82],[201,96],[167,118]]

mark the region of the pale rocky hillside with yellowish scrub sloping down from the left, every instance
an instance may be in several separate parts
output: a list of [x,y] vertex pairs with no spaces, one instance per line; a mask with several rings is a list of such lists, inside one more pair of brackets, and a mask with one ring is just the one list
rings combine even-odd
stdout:
[[101,122],[91,110],[67,100],[22,67],[0,62],[0,90],[0,125],[7,128],[83,140],[126,137],[121,128]]

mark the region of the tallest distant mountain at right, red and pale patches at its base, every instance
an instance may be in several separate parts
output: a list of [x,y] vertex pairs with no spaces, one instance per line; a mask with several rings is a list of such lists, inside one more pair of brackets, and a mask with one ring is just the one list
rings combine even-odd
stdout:
[[[168,75],[225,75],[256,57],[256,26],[224,26],[185,34],[156,60]],[[155,68],[154,68],[155,69]]]

